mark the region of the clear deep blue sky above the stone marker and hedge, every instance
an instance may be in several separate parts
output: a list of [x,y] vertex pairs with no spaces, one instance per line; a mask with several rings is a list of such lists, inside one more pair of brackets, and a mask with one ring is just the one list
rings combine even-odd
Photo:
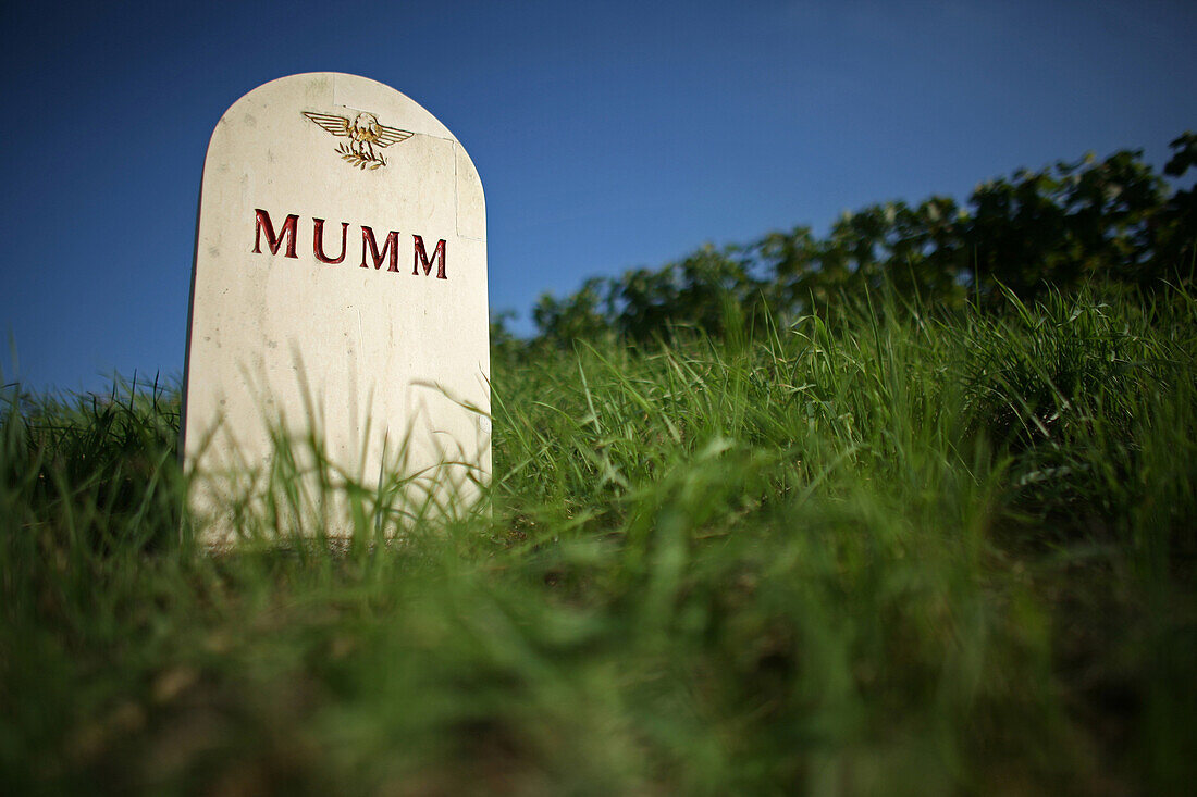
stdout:
[[208,136],[297,72],[399,89],[486,188],[493,310],[704,242],[1197,128],[1197,2],[5,2],[0,366],[181,376]]

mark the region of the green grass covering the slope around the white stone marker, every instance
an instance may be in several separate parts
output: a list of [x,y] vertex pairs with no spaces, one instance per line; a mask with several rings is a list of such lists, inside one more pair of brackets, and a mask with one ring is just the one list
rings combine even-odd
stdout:
[[0,791],[1187,791],[1197,299],[873,298],[497,348],[492,512],[338,553],[181,539],[169,390],[7,389]]

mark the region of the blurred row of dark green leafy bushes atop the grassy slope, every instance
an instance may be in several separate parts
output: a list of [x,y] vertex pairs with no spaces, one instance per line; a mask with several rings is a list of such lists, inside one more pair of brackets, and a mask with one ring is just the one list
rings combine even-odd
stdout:
[[[663,267],[593,278],[533,310],[537,345],[618,336],[646,342],[698,327],[719,336],[729,318],[755,323],[833,314],[849,296],[888,286],[928,306],[1033,302],[1081,286],[1154,291],[1193,279],[1197,134],[1172,141],[1157,174],[1142,150],[1122,150],[977,185],[967,206],[948,196],[845,212],[825,237],[808,226],[747,245],[701,247]],[[729,315],[729,309],[735,312]]]

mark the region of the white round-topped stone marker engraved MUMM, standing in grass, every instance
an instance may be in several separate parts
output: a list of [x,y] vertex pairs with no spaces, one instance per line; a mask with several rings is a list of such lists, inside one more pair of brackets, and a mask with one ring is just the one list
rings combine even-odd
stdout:
[[[203,163],[184,376],[209,542],[266,488],[272,428],[315,428],[334,483],[409,477],[442,511],[467,505],[491,470],[487,336],[482,185],[440,122],[348,74],[238,99]],[[323,506],[316,533],[346,534],[344,505]]]

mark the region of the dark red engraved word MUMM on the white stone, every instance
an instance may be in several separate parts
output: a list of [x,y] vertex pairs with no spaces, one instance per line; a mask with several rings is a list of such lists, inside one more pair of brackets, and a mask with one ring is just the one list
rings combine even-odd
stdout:
[[[299,217],[292,213],[287,217],[286,221],[282,223],[282,229],[278,232],[274,231],[274,225],[271,224],[271,214],[266,211],[255,209],[254,211],[254,254],[262,254],[262,238],[266,238],[266,248],[271,250],[272,255],[278,255],[279,250],[284,253],[285,257],[296,257],[296,230],[299,225]],[[341,221],[341,254],[336,257],[329,257],[324,254],[324,219],[312,219],[311,220],[311,251],[322,263],[336,264],[345,261],[345,253],[347,251],[350,223]],[[388,272],[399,272],[399,233],[391,230],[387,233],[387,238],[383,241],[382,249],[378,249],[378,239],[375,238],[373,230],[367,226],[361,226],[361,268],[370,268],[372,264],[375,270],[381,270],[383,261],[387,262]],[[432,273],[433,264],[437,268],[437,279],[449,279],[445,276],[445,242],[440,239],[437,242],[436,249],[432,250],[432,256],[429,257],[429,250],[424,248],[423,236],[412,236],[412,274],[419,275],[420,270],[424,270],[424,275],[427,276]]]

